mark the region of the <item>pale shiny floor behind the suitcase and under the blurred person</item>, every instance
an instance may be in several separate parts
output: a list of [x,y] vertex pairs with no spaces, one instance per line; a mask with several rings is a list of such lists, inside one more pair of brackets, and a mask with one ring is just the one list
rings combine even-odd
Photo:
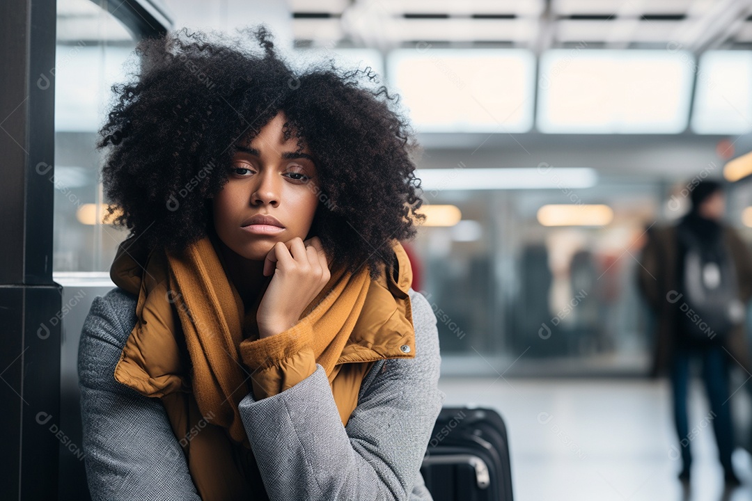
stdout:
[[691,394],[693,481],[676,479],[668,386],[645,380],[442,378],[444,405],[501,412],[511,442],[516,501],[741,501],[752,499],[752,460],[735,451],[742,485],[723,488],[702,388]]

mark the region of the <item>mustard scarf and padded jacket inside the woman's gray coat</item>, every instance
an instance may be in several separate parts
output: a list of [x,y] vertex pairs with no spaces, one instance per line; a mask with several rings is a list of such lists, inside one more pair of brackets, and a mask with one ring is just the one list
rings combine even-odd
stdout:
[[[117,252],[111,278],[126,291],[138,294],[138,320],[123,348],[115,378],[149,397],[192,392],[208,422],[226,428],[233,441],[250,447],[238,403],[251,388],[256,398],[264,397],[264,391],[274,385],[276,392],[286,388],[278,372],[265,371],[264,359],[271,352],[290,350],[290,343],[280,343],[293,339],[293,344],[305,345],[294,349],[312,350],[315,362],[326,370],[346,423],[356,406],[365,371],[337,387],[333,383],[344,364],[415,356],[408,296],[411,267],[399,242],[394,243],[393,251],[395,266],[390,270],[382,267],[378,280],[369,278],[365,266],[356,274],[332,269],[331,279],[294,327],[307,335],[255,340],[256,312],[250,311],[246,317],[211,237],[202,238],[180,255],[149,252],[139,247],[138,241],[128,239]],[[253,374],[252,369],[258,370]],[[293,381],[315,367],[304,369]]]

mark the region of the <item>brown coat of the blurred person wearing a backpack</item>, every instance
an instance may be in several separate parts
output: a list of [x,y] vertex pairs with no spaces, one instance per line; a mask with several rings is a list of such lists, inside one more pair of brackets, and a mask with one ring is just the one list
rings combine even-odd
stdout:
[[[752,256],[736,231],[724,226],[722,232],[721,237],[734,262],[739,299],[746,305],[747,300],[752,297]],[[677,330],[676,305],[666,297],[669,292],[677,291],[680,287],[677,276],[678,252],[678,234],[675,226],[648,231],[647,243],[639,260],[641,266],[638,267],[638,284],[658,323],[652,376],[658,376],[668,369],[674,352]],[[744,369],[752,370],[743,324],[735,327],[723,344]]]

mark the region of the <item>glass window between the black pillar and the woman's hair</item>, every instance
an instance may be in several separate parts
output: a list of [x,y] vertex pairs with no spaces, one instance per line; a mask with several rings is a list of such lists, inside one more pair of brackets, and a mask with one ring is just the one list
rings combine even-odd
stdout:
[[[55,191],[53,270],[109,270],[127,231],[102,222],[106,201],[97,131],[111,103],[111,86],[126,80],[135,41],[90,0],[57,2],[55,68]],[[44,85],[42,75],[41,85]],[[44,166],[39,169],[44,171]],[[50,169],[51,171],[51,169]]]

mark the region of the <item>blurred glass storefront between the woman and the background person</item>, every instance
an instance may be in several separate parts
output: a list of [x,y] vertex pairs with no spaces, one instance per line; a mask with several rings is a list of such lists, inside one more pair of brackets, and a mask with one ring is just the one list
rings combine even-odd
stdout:
[[[663,186],[638,178],[593,184],[426,186],[428,219],[413,245],[444,373],[646,369],[636,274],[647,225],[663,216]],[[552,220],[550,209],[578,217]]]

